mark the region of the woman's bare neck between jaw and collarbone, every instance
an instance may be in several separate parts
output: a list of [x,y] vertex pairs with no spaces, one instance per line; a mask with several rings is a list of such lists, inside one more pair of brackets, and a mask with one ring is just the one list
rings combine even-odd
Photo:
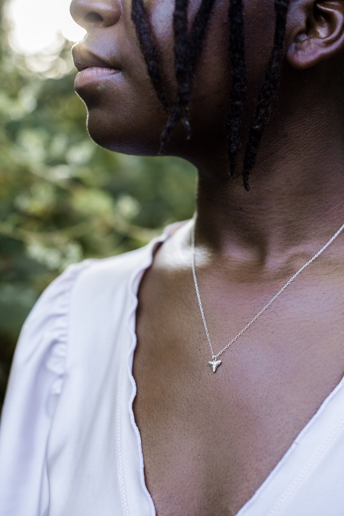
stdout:
[[240,175],[230,179],[225,160],[216,158],[223,149],[197,164],[197,233],[204,245],[266,264],[326,243],[344,222],[341,117],[325,112],[328,106],[320,114],[294,107],[297,117],[289,127],[281,112],[273,116],[250,193]]

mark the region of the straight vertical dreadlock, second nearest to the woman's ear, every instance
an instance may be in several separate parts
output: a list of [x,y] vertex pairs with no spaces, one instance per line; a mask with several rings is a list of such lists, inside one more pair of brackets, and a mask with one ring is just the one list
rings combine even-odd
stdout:
[[228,16],[230,20],[229,49],[232,63],[232,87],[226,128],[229,139],[229,172],[230,175],[234,175],[241,147],[240,131],[242,128],[247,83],[243,0],[231,0]]

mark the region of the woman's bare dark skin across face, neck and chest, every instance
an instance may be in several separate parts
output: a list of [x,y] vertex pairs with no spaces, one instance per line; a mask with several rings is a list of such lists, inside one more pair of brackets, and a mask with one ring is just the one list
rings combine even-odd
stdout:
[[[198,5],[191,1],[191,18]],[[146,8],[172,98],[173,3],[152,0]],[[199,169],[197,275],[216,352],[344,222],[344,2],[291,2],[279,99],[250,193],[240,166],[234,179],[227,174],[227,8],[227,1],[215,4],[197,68],[192,139],[178,127],[166,148]],[[122,70],[101,89],[77,88],[90,135],[115,151],[156,154],[166,116],[130,21],[130,0],[73,0],[71,12],[89,33],[74,50],[76,63],[94,52]],[[245,23],[247,126],[272,45],[272,0],[246,0]],[[232,516],[343,376],[344,237],[222,355],[216,374],[207,365],[190,237],[187,223],[158,249],[141,283],[134,414],[158,516]]]

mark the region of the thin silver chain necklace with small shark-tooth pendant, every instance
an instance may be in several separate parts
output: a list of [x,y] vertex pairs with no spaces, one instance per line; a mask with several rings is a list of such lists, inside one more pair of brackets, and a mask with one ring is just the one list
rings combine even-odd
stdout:
[[192,247],[192,273],[193,273],[193,277],[194,277],[194,282],[195,282],[195,288],[196,288],[196,294],[197,294],[197,299],[198,299],[198,304],[199,304],[199,309],[201,311],[201,315],[202,315],[202,319],[203,319],[203,324],[204,324],[204,328],[205,328],[205,333],[207,333],[207,337],[208,337],[208,342],[209,342],[209,346],[210,346],[210,349],[211,349],[211,352],[212,352],[212,356],[213,356],[213,360],[208,362],[208,364],[211,366],[211,368],[213,369],[213,372],[215,373],[217,367],[222,363],[221,360],[217,360],[221,354],[223,352],[226,351],[226,349],[229,348],[229,346],[231,346],[232,344],[234,344],[234,342],[237,340],[237,338],[240,337],[240,335],[242,335],[244,333],[244,331],[247,330],[247,328],[249,328],[254,321],[257,320],[257,318],[262,315],[263,312],[265,312],[265,310],[267,308],[269,308],[270,304],[273,303],[273,301],[275,299],[278,298],[278,296],[280,294],[282,294],[282,292],[287,288],[288,285],[290,285],[290,283],[292,281],[295,280],[295,278],[297,276],[299,276],[300,272],[303,271],[303,269],[305,269],[306,267],[308,267],[309,264],[311,264],[312,262],[314,262],[314,260],[320,256],[320,254],[329,247],[330,244],[332,244],[333,240],[335,240],[337,238],[337,236],[343,231],[344,229],[344,224],[339,228],[339,230],[337,231],[337,233],[335,233],[333,235],[333,237],[328,241],[327,244],[324,245],[324,247],[322,247],[320,249],[320,251],[317,252],[317,254],[315,254],[313,256],[313,258],[311,260],[309,260],[307,263],[305,263],[301,269],[299,269],[295,274],[294,276],[292,276],[290,278],[289,281],[287,281],[287,283],[284,285],[284,287],[281,288],[281,290],[276,294],[276,296],[273,296],[273,298],[268,302],[267,305],[265,305],[265,307],[263,308],[263,310],[261,310],[255,317],[253,317],[253,319],[248,322],[248,324],[245,326],[245,328],[242,329],[242,331],[240,331],[234,338],[232,338],[231,342],[229,342],[227,344],[227,346],[225,346],[223,349],[221,349],[221,351],[217,354],[215,354],[214,352],[214,349],[213,349],[213,345],[212,345],[212,342],[210,340],[210,335],[209,335],[209,331],[208,331],[208,327],[207,327],[207,322],[205,322],[205,317],[204,317],[204,312],[203,312],[203,307],[202,307],[202,301],[201,301],[201,296],[199,294],[199,288],[198,288],[198,283],[197,283],[197,278],[196,278],[196,268],[195,268],[195,254],[196,254],[196,251],[195,251],[195,225],[196,225],[196,220],[195,220],[195,223],[194,223],[194,227],[193,227],[193,230],[192,230],[192,234],[191,234],[191,247]]

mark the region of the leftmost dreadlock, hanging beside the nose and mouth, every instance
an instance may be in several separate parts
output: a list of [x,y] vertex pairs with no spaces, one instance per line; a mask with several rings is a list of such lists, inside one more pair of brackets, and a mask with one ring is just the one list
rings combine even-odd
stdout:
[[141,50],[146,61],[150,79],[157,91],[158,98],[163,105],[164,110],[167,111],[156,45],[153,41],[143,0],[132,0],[131,19],[136,28],[136,34],[140,41]]

